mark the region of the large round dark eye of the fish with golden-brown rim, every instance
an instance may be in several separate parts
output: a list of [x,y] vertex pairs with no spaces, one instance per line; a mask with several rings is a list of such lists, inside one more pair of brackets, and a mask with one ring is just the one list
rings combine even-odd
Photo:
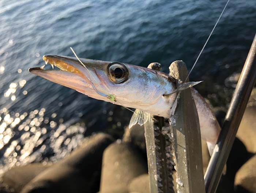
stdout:
[[114,83],[123,83],[128,79],[128,69],[120,62],[111,62],[108,65],[109,79]]

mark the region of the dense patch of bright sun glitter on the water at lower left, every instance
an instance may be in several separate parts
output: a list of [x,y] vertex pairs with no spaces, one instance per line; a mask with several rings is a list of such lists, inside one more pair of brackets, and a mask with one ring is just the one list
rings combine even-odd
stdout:
[[0,110],[0,163],[4,164],[0,165],[0,174],[14,165],[56,162],[82,143],[84,124],[70,126],[62,118],[55,119],[56,113],[45,117],[45,111],[42,108],[19,114]]

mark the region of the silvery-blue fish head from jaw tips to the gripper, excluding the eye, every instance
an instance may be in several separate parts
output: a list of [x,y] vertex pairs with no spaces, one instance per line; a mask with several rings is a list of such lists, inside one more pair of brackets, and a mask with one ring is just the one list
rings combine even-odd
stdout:
[[[61,70],[30,68],[31,73],[98,100],[169,117],[176,94],[163,95],[172,92],[176,86],[162,72],[116,62],[127,70],[127,80],[115,83],[109,76],[109,66],[113,62],[81,58],[81,64],[74,57],[56,55],[45,55],[43,59]],[[114,100],[106,96],[113,96]]]

